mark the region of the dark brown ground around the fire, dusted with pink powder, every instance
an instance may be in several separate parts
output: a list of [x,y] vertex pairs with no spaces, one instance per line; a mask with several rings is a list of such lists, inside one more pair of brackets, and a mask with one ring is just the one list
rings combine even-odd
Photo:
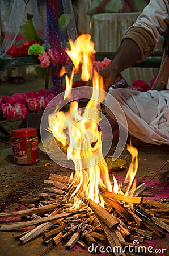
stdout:
[[[8,81],[1,81],[0,89],[1,95],[12,95],[15,92],[27,92],[28,90],[40,90],[44,88],[44,81],[39,79],[36,75],[28,76],[26,82],[22,85],[9,84]],[[20,122],[7,122],[2,119],[0,124],[5,127],[10,133],[12,129],[19,127]],[[3,134],[0,134],[0,185],[1,185],[1,200],[0,207],[1,212],[9,212],[11,210],[22,207],[23,200],[26,197],[38,196],[41,192],[41,186],[43,181],[48,179],[51,172],[60,175],[69,175],[71,170],[61,168],[54,163],[48,155],[45,155],[40,151],[40,161],[31,166],[18,166],[14,164],[12,157],[11,137],[5,138]],[[3,137],[3,138],[2,138]],[[160,170],[162,166],[169,160],[168,152],[169,148],[166,145],[154,146],[138,141],[136,138],[132,138],[132,144],[138,148],[138,171],[136,179],[142,179],[145,182],[147,189],[145,192],[153,193],[155,198],[153,200],[161,200],[168,198],[168,181],[161,183],[159,181],[159,175],[161,172],[166,171],[165,168]],[[111,152],[110,152],[111,153]],[[125,170],[116,171],[115,176],[117,180],[122,180],[125,177],[126,171],[130,163],[130,155],[126,148],[122,152],[122,156],[127,160],[127,166]],[[45,163],[50,163],[50,166],[45,166]],[[110,173],[112,179],[112,173]],[[167,199],[166,199],[167,200]],[[3,222],[3,220],[1,220]],[[26,245],[19,246],[18,241],[15,240],[16,233],[18,232],[0,232],[0,255],[5,256],[18,256],[18,255],[40,255],[45,246],[41,243],[41,237],[33,240]],[[157,236],[153,237],[151,246],[157,249],[167,249],[168,236],[160,239]],[[49,256],[58,255],[90,255],[87,249],[81,249],[79,246],[73,247],[71,251],[66,250],[64,244],[55,247],[47,254]],[[100,254],[107,255],[107,254]],[[153,254],[152,254],[153,255]],[[155,255],[162,255],[157,253]],[[165,256],[169,254],[164,254]]]

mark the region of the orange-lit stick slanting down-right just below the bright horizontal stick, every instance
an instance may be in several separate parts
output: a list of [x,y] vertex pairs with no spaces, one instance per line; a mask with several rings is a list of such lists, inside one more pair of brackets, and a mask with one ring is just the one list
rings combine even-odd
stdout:
[[106,196],[103,196],[104,200],[107,203],[111,204],[113,208],[122,216],[128,218],[129,221],[135,220],[137,225],[140,226],[142,224],[141,218],[139,218],[136,214],[134,214],[131,210],[126,209],[122,204],[117,202],[114,199],[108,199]]

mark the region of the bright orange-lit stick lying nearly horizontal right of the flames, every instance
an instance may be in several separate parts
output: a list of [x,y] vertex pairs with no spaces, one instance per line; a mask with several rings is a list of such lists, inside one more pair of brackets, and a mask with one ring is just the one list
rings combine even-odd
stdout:
[[126,203],[140,204],[142,201],[142,197],[117,195],[109,191],[103,191],[102,193],[104,193],[105,196],[108,196],[112,199],[115,199],[117,201],[124,201]]

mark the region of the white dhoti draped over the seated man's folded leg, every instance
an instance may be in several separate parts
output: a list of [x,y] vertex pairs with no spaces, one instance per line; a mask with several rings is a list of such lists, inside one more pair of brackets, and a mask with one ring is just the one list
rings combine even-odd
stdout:
[[125,113],[130,135],[151,144],[169,144],[169,90],[114,89],[108,93],[105,99],[107,114],[113,119],[116,117],[124,127],[118,105],[113,104],[116,100]]

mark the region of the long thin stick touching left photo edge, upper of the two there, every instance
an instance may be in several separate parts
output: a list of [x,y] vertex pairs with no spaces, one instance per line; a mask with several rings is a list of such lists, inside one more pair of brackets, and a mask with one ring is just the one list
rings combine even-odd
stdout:
[[50,212],[50,210],[53,210],[57,208],[60,204],[48,204],[44,205],[43,207],[37,207],[37,208],[31,208],[26,210],[18,210],[17,212],[7,212],[7,213],[0,213],[1,218],[9,218],[9,217],[18,217],[28,214],[43,214]]

